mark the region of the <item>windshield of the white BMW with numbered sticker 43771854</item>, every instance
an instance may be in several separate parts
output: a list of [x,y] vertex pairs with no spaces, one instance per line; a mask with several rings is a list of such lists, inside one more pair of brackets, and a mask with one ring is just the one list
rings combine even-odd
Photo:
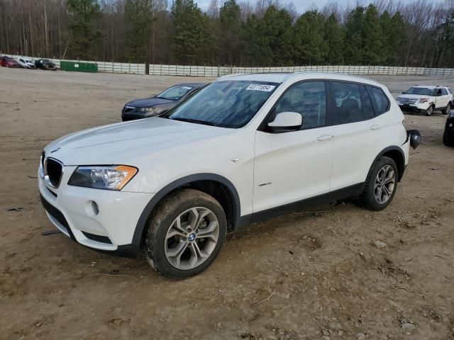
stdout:
[[241,128],[279,86],[267,81],[216,81],[165,115],[222,128]]

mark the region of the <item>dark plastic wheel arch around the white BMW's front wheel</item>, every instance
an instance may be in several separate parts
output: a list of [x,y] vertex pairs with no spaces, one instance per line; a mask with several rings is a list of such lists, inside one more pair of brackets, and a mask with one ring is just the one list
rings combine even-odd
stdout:
[[157,207],[162,198],[165,198],[179,188],[195,188],[204,193],[208,193],[218,200],[226,212],[228,229],[236,229],[240,224],[240,197],[238,196],[238,191],[233,183],[218,174],[192,174],[167,184],[158,191],[145,206],[145,209],[140,214],[138,222],[135,225],[133,234],[132,244],[134,244],[136,249],[139,250],[143,246],[143,234],[153,210]]

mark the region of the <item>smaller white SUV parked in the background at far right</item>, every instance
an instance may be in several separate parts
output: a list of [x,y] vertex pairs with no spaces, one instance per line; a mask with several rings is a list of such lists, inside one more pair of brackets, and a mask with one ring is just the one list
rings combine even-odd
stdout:
[[453,102],[453,91],[447,86],[417,85],[397,97],[397,103],[402,110],[426,115],[431,115],[436,110],[446,114],[453,107]]

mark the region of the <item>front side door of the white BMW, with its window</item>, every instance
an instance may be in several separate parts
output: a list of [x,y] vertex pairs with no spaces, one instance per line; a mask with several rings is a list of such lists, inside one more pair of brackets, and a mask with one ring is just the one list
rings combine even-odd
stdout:
[[[279,98],[255,135],[253,210],[329,192],[333,131],[327,126],[325,81],[294,84]],[[272,133],[267,123],[281,112],[302,115],[301,129]]]

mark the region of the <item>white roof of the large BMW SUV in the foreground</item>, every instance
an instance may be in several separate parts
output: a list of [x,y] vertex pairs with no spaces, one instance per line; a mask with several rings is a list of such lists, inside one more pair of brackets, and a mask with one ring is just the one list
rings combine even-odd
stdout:
[[322,73],[322,72],[296,72],[296,73],[256,73],[256,74],[230,74],[216,79],[216,81],[248,80],[248,81],[270,81],[283,83],[284,81],[299,81],[305,79],[334,79],[344,81],[358,81],[364,84],[380,85],[374,79],[351,76],[350,74]]

